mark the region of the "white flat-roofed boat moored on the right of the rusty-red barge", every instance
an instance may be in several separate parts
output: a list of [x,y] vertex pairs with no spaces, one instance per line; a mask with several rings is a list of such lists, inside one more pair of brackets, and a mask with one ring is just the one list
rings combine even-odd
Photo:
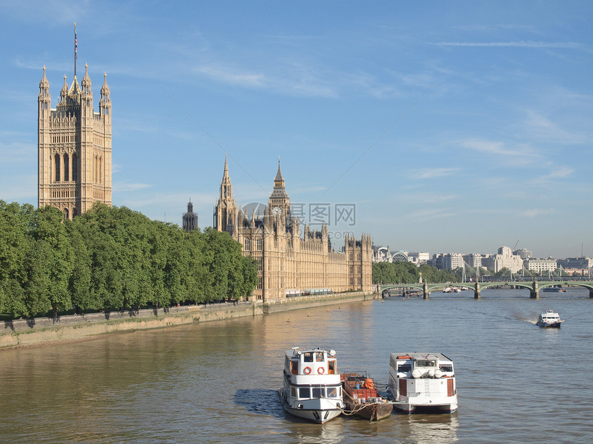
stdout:
[[394,408],[412,413],[457,410],[457,386],[451,359],[441,353],[392,353],[388,394]]

